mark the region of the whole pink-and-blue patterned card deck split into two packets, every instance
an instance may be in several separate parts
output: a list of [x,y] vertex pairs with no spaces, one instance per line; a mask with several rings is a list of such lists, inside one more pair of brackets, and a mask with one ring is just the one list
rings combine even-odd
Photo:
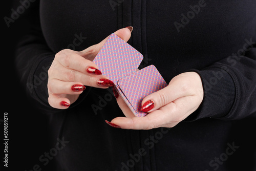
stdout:
[[167,86],[155,66],[137,70],[143,55],[114,33],[93,60],[102,75],[109,77],[117,91],[135,116],[145,116],[141,112],[144,97]]

